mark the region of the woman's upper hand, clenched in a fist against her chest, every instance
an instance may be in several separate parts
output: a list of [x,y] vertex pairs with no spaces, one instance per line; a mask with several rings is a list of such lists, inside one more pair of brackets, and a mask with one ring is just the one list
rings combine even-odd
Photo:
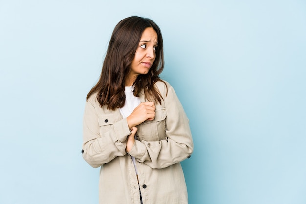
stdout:
[[155,104],[154,102],[142,102],[140,103],[127,117],[129,128],[135,127],[142,122],[149,120],[152,121],[155,118]]

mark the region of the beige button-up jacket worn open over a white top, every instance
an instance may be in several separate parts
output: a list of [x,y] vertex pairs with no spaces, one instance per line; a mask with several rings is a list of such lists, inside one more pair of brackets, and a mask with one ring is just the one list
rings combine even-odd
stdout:
[[[193,141],[189,121],[173,87],[156,85],[164,100],[158,102],[155,119],[138,125],[137,139],[126,153],[131,134],[119,109],[100,107],[93,94],[85,106],[83,158],[92,167],[101,166],[100,204],[140,204],[139,187],[131,156],[136,158],[144,204],[188,204],[180,162],[190,157]],[[140,94],[141,102],[146,102]]]

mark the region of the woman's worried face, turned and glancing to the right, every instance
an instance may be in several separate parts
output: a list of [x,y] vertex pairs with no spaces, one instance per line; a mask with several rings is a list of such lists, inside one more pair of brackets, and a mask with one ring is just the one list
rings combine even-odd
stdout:
[[131,71],[128,78],[135,80],[139,74],[147,74],[155,60],[158,46],[156,31],[148,27],[140,38],[135,57],[131,63]]

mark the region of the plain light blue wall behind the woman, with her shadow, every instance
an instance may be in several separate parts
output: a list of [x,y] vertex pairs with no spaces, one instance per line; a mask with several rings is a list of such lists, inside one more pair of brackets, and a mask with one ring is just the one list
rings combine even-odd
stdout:
[[190,204],[306,204],[304,0],[0,0],[0,203],[98,202],[85,97],[131,15],[162,29]]

